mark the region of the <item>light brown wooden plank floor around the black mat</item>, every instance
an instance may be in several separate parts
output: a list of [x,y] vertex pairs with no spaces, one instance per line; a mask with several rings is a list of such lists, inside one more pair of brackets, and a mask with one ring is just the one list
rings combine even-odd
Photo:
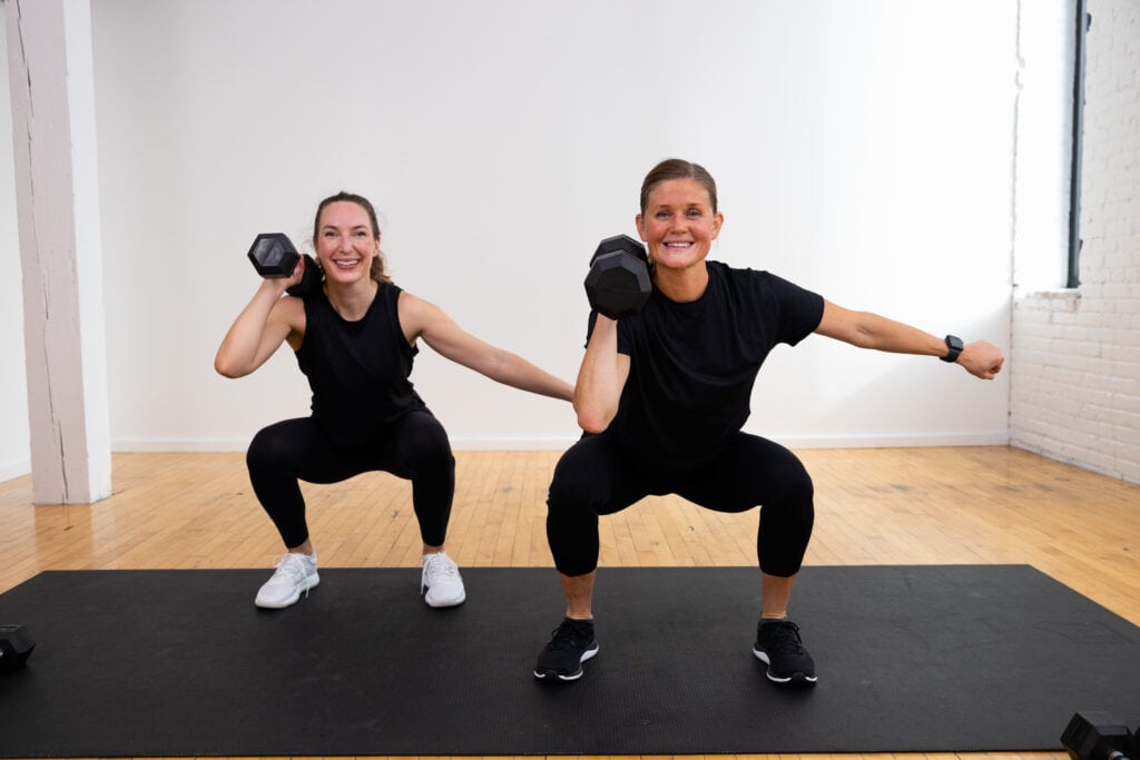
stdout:
[[[816,487],[806,564],[1029,564],[1140,624],[1140,485],[1004,447],[797,453]],[[557,456],[457,452],[447,548],[461,567],[552,566],[545,493]],[[114,495],[95,505],[33,506],[31,476],[0,483],[0,593],[42,570],[266,567],[268,578],[282,548],[242,455],[120,453],[113,465]],[[418,564],[406,481],[376,473],[306,493],[321,566]],[[602,520],[601,564],[754,565],[756,521],[756,510],[650,498]],[[561,604],[552,598],[552,611]]]

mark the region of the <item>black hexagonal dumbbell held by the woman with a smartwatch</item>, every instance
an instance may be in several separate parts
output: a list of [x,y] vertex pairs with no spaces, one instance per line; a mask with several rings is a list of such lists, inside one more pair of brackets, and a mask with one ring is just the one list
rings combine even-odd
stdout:
[[589,305],[610,319],[632,317],[653,292],[645,247],[628,235],[602,240],[586,275]]

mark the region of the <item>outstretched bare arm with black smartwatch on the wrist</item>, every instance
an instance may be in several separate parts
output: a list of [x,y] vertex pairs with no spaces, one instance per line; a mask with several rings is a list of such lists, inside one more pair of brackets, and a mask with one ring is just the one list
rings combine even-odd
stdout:
[[[946,343],[936,335],[870,311],[850,311],[830,301],[823,302],[823,318],[815,332],[861,349],[927,357],[946,356]],[[975,377],[993,379],[1001,371],[1004,361],[1001,349],[996,345],[987,341],[975,341],[963,346],[956,363]]]

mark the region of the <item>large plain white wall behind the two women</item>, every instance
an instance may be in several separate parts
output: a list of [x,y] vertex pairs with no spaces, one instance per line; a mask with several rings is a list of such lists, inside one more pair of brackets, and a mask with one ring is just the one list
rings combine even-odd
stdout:
[[[572,379],[596,242],[660,158],[720,186],[714,258],[1005,345],[1013,0],[92,0],[112,440],[242,449],[304,414],[287,351],[212,370],[258,231],[369,196],[398,284]],[[7,340],[7,338],[6,338]],[[813,337],[749,430],[792,446],[1004,443],[1008,381]],[[561,448],[569,404],[424,350],[463,448]]]

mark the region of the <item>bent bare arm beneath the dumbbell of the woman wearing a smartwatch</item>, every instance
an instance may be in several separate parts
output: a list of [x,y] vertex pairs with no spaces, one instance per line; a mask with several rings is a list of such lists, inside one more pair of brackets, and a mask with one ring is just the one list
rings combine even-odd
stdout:
[[628,377],[629,357],[618,353],[618,322],[598,314],[575,385],[578,426],[587,433],[601,433],[609,427],[618,414],[621,389]]

